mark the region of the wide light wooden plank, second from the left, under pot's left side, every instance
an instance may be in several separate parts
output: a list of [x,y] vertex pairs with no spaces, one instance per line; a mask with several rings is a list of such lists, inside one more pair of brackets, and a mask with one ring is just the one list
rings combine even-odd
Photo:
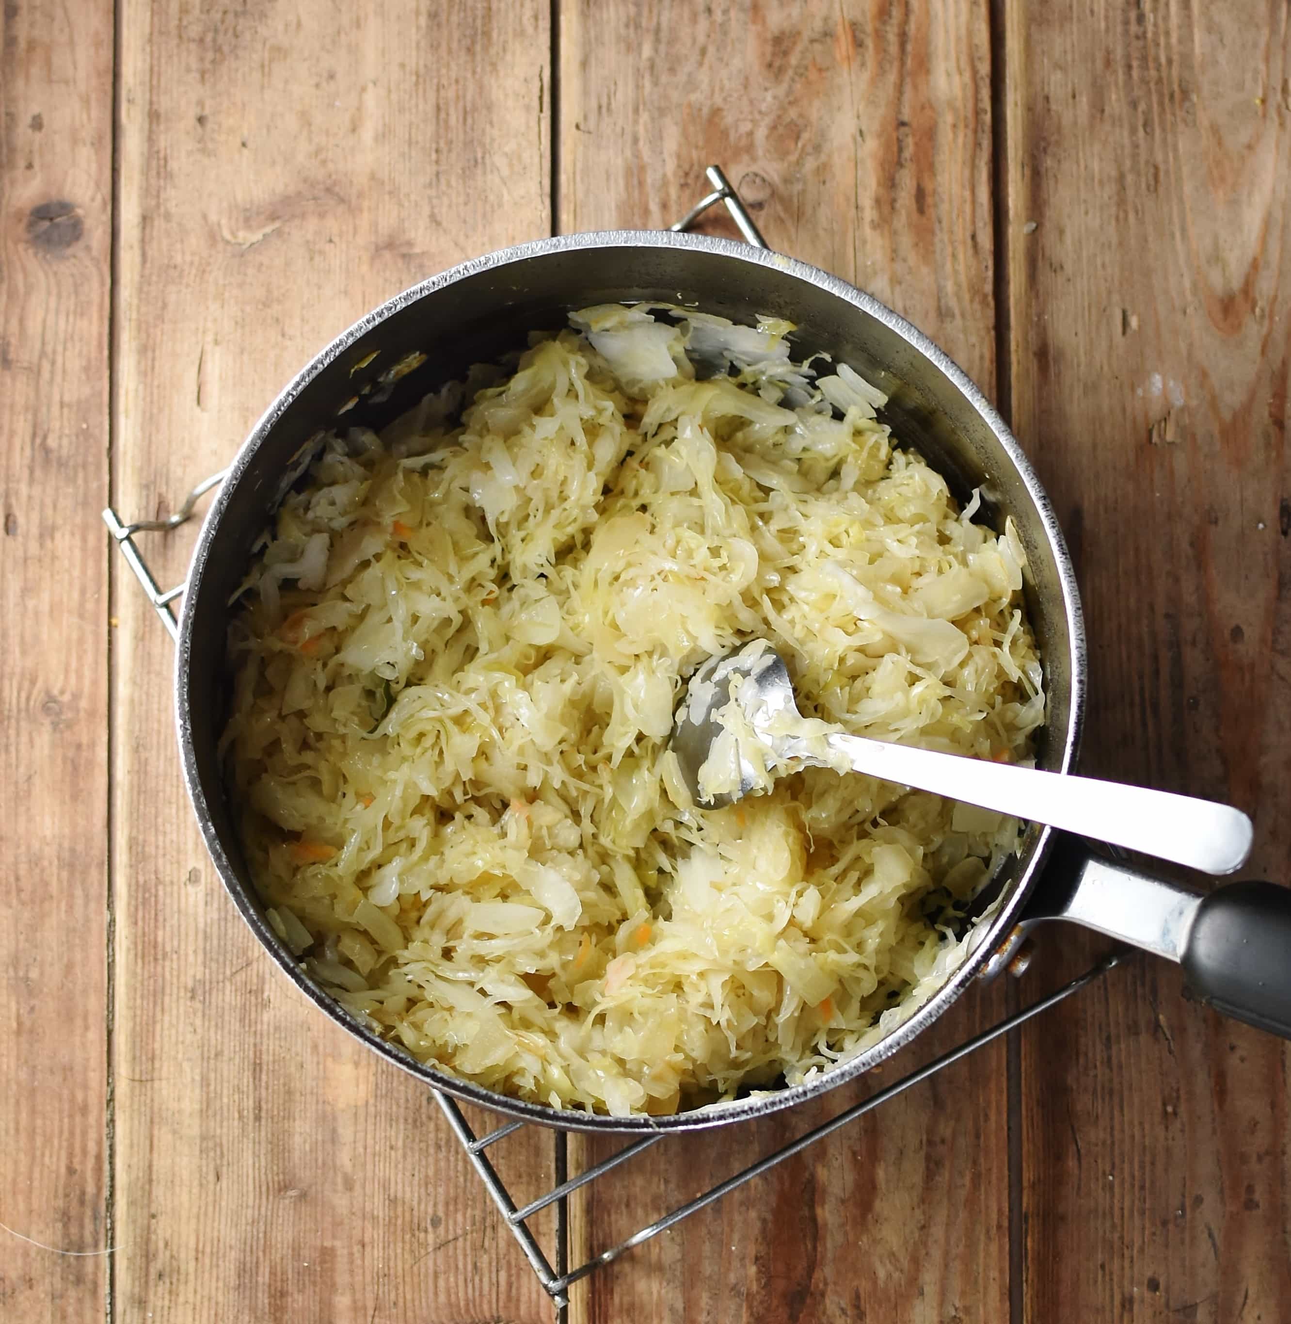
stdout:
[[[550,225],[548,8],[122,0],[117,498],[177,500],[379,301]],[[147,553],[183,575],[191,540]],[[550,1320],[422,1087],[273,973],[184,800],[118,568],[119,1320]],[[553,1143],[507,1141],[523,1188]]]

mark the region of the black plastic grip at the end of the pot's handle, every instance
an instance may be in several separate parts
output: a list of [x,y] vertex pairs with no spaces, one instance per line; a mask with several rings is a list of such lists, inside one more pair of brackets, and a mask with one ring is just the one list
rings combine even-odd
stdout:
[[1180,964],[1202,1002],[1291,1039],[1291,887],[1229,883],[1204,896]]

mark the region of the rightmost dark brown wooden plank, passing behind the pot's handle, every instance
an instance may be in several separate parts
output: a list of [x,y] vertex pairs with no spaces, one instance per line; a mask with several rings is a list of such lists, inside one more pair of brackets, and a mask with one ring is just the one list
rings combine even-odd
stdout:
[[[1014,424],[1073,535],[1091,773],[1291,882],[1291,33],[1009,4]],[[1291,1054],[1137,964],[1025,1037],[1025,1317],[1283,1320]]]

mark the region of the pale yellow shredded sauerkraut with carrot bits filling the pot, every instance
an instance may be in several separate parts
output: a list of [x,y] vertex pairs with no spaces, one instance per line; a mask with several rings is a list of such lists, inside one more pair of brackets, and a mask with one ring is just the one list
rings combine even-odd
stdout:
[[798,1082],[947,977],[1018,825],[808,769],[696,809],[687,675],[767,638],[804,714],[1025,760],[1012,528],[792,327],[605,306],[381,437],[320,440],[229,630],[249,869],[310,976],[490,1088],[669,1113]]

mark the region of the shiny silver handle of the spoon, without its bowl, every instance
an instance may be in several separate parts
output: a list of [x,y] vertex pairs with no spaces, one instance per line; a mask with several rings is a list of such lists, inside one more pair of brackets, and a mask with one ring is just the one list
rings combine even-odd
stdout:
[[914,749],[842,732],[828,736],[828,744],[834,759],[808,755],[806,761],[833,768],[846,761],[854,772],[1141,850],[1208,874],[1230,874],[1250,854],[1250,818],[1239,809],[1210,800]]

